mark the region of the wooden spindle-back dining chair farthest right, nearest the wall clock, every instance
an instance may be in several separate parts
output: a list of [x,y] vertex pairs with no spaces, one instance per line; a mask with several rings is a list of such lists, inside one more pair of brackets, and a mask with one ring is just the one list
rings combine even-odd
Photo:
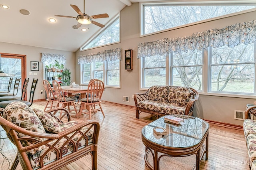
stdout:
[[[104,112],[102,110],[102,107],[100,105],[101,103],[101,97],[104,91],[104,83],[103,81],[99,79],[92,80],[88,85],[87,90],[87,96],[86,98],[81,99],[81,111],[79,117],[82,115],[84,106],[86,106],[86,109],[88,110],[89,119],[91,119],[91,114],[96,113],[97,111],[101,111],[103,117],[105,117]],[[96,108],[96,106],[99,106],[100,108]]]

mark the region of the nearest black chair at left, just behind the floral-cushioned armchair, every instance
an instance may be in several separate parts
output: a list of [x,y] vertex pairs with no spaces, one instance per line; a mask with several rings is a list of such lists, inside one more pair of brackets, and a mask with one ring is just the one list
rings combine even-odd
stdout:
[[33,100],[34,100],[34,94],[35,94],[35,89],[36,89],[36,84],[38,83],[38,79],[33,79],[32,85],[31,85],[31,89],[30,89],[30,97],[29,100],[7,100],[7,101],[0,101],[0,107],[1,108],[5,108],[9,103],[12,103],[14,101],[20,101],[22,103],[25,103],[28,106],[31,106],[33,104]]

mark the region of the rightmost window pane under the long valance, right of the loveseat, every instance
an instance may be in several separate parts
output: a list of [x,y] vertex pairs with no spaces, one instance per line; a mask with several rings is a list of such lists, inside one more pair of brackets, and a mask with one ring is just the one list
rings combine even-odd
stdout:
[[210,91],[254,93],[254,43],[210,48]]

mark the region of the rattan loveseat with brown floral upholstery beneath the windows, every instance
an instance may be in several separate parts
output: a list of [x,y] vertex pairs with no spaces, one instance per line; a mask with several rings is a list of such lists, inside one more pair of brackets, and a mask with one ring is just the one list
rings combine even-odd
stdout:
[[198,92],[193,88],[152,86],[145,93],[134,94],[136,118],[140,118],[141,112],[154,114],[157,119],[171,114],[192,116],[198,97]]

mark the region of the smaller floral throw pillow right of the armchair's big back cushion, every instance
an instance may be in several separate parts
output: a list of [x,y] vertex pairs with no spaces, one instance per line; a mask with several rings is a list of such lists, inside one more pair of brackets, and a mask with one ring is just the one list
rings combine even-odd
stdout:
[[48,113],[45,113],[44,111],[41,111],[39,109],[33,109],[33,111],[36,113],[38,118],[40,119],[42,125],[44,126],[45,130],[52,133],[59,133],[60,125],[58,124],[58,121],[54,119],[51,115]]

